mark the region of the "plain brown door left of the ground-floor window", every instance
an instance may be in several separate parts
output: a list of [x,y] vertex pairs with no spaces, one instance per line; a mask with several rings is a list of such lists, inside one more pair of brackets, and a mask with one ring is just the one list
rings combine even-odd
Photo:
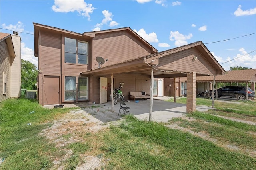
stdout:
[[44,76],[44,105],[59,104],[60,77]]

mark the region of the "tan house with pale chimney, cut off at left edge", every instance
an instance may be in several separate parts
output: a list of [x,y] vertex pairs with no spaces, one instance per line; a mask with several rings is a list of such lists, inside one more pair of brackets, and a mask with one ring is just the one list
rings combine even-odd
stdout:
[[20,36],[0,33],[0,102],[8,98],[19,98],[21,87]]

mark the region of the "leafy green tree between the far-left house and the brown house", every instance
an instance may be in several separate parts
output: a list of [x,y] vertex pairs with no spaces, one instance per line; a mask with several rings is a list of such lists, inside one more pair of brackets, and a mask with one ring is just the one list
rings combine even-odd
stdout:
[[37,75],[36,66],[28,60],[21,59],[21,88],[36,90]]

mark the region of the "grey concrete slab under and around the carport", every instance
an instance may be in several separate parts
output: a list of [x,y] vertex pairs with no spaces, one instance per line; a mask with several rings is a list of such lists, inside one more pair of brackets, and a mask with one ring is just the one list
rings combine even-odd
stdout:
[[[186,104],[179,104],[173,102],[164,101],[166,98],[155,98],[153,100],[153,113],[152,113],[152,121],[157,122],[167,122],[168,120],[174,117],[184,117],[186,115]],[[150,109],[150,100],[138,100],[139,102],[125,102],[127,107],[131,109],[130,114],[135,115],[141,120],[148,121],[149,119],[149,109]],[[86,102],[86,103],[74,103],[74,104],[64,104],[65,107],[81,107],[84,111],[92,115],[94,118],[98,119],[98,121],[102,123],[116,121],[122,118],[123,115],[119,112],[120,104],[114,105],[114,112],[111,112],[111,102],[107,102],[104,104],[95,104],[96,106],[100,106],[98,108],[92,109],[90,106],[94,104]],[[46,108],[52,109],[54,105],[44,106]],[[86,107],[86,108],[84,108]],[[208,106],[196,106],[198,111],[207,111],[208,109],[212,109],[212,107]],[[121,110],[122,111],[122,110]],[[126,113],[127,114],[127,113]]]

